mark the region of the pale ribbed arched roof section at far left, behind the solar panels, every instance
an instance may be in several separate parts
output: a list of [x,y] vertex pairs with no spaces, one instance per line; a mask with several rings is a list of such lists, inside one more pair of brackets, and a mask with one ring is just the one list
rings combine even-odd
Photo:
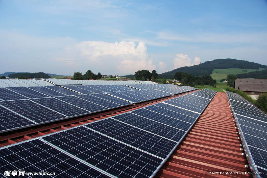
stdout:
[[16,80],[16,79],[0,79],[0,87],[20,87],[20,86],[54,86],[47,81],[37,80]]

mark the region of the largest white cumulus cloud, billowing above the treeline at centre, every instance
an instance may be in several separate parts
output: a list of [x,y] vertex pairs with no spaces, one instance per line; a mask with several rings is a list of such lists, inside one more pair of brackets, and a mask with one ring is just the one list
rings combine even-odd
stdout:
[[[76,43],[71,48],[66,48],[65,51],[68,58],[71,55],[69,52],[74,51],[78,56],[72,57],[75,58],[73,60],[78,59],[77,62],[81,60],[80,62],[83,62],[85,66],[93,65],[99,70],[113,70],[117,74],[129,74],[142,69],[150,71],[156,69],[152,59],[148,57],[147,47],[143,42],[139,42],[136,46],[132,41],[119,43],[83,41]],[[64,60],[64,58],[61,59]],[[72,62],[68,63],[72,64]]]

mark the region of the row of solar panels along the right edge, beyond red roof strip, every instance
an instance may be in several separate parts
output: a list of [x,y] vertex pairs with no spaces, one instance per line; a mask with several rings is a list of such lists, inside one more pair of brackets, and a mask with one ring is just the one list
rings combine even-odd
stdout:
[[238,94],[226,93],[252,171],[267,172],[267,114]]

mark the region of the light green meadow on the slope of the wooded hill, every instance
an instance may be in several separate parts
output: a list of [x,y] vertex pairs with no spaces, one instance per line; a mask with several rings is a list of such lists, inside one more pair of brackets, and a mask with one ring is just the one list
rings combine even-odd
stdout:
[[[242,72],[242,70],[248,70],[248,72]],[[223,78],[227,78],[227,75],[229,74],[243,74],[243,73],[249,73],[249,72],[253,72],[253,71],[260,71],[260,70],[264,70],[264,68],[259,68],[259,69],[238,69],[238,68],[229,68],[229,69],[214,69],[212,71],[212,74],[210,74],[210,76],[217,80],[220,81]],[[216,73],[218,72],[218,73]]]

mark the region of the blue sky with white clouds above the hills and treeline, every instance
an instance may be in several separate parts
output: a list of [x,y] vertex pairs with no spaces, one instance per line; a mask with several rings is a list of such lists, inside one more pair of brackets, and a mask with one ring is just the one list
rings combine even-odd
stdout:
[[267,1],[0,0],[0,73],[267,65]]

